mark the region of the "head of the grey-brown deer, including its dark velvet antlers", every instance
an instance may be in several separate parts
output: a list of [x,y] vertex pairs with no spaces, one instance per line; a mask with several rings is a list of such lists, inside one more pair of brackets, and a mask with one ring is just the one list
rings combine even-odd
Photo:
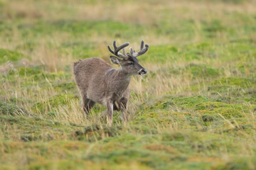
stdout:
[[[119,64],[121,66],[120,69],[124,72],[127,72],[127,74],[146,74],[146,69],[144,69],[144,67],[139,64],[137,57],[139,57],[139,55],[143,55],[147,50],[149,50],[149,45],[146,44],[144,47],[144,41],[142,40],[139,52],[135,52],[134,50],[132,50],[132,48],[130,48],[130,53],[127,52],[125,54],[124,47],[127,47],[128,45],[129,42],[125,42],[124,44],[117,47],[116,41],[114,40],[114,51],[108,45],[108,50],[110,50],[110,52],[114,55],[110,56],[111,61],[114,64]],[[122,50],[122,53],[120,53],[119,50]]]

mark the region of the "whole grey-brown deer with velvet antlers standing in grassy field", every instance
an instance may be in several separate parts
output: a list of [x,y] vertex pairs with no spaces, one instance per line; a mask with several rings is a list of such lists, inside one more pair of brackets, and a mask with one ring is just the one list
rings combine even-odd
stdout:
[[131,77],[146,74],[146,69],[139,64],[137,57],[149,50],[149,45],[146,44],[144,47],[142,40],[139,52],[130,47],[129,52],[125,53],[124,48],[128,45],[129,42],[125,42],[117,47],[116,40],[113,42],[114,50],[107,45],[112,53],[110,60],[118,64],[119,69],[97,57],[85,58],[74,63],[73,71],[82,97],[84,116],[90,113],[95,103],[100,103],[107,107],[107,125],[112,125],[113,111],[121,111],[122,121],[127,123]]

